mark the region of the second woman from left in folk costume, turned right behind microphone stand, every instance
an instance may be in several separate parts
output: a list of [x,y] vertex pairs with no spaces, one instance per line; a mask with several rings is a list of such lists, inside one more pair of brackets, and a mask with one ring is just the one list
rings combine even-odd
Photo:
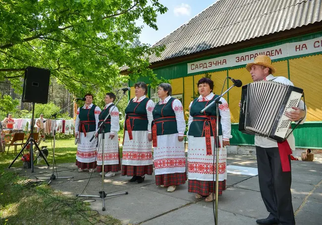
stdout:
[[[107,114],[109,114],[107,120],[104,123],[105,133],[104,139],[104,172],[107,173],[105,177],[115,176],[115,172],[120,171],[119,156],[118,156],[118,136],[117,132],[119,131],[119,113],[116,106],[113,102],[116,96],[114,93],[106,93],[105,96],[105,107],[99,115],[99,126],[103,123]],[[102,128],[99,130],[99,147],[97,155],[97,172],[102,175]]]

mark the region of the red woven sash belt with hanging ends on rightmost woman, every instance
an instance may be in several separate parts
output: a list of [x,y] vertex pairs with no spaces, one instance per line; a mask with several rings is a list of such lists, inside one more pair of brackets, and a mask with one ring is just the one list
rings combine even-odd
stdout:
[[[202,136],[204,135],[204,132],[205,132],[207,155],[213,154],[210,129],[212,129],[214,138],[215,138],[216,137],[216,118],[217,118],[216,116],[194,116],[193,117],[193,121],[204,121]],[[220,148],[220,142],[218,143],[218,145]]]

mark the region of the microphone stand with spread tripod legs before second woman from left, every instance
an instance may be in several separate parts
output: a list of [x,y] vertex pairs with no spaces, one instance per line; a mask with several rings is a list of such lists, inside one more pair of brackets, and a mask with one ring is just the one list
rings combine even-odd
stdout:
[[123,192],[123,193],[109,194],[109,195],[107,195],[105,193],[105,190],[104,190],[104,161],[105,161],[105,159],[104,159],[104,146],[105,146],[104,145],[104,141],[105,141],[105,128],[104,128],[104,123],[107,120],[107,118],[110,115],[110,113],[114,110],[114,108],[116,107],[116,105],[118,104],[118,102],[123,98],[123,96],[125,95],[125,92],[126,92],[126,90],[123,90],[123,95],[118,99],[118,101],[116,102],[116,104],[111,108],[111,110],[108,112],[107,116],[105,117],[104,121],[101,123],[100,127],[98,127],[97,131],[95,132],[95,134],[90,139],[90,141],[92,141],[93,138],[95,137],[95,135],[98,134],[98,132],[100,130],[102,131],[102,191],[99,191],[99,195],[76,194],[76,197],[96,197],[96,198],[102,198],[102,202],[103,202],[102,211],[105,211],[106,210],[106,208],[105,208],[105,200],[104,200],[106,197],[128,194],[128,192],[126,191],[126,192]]

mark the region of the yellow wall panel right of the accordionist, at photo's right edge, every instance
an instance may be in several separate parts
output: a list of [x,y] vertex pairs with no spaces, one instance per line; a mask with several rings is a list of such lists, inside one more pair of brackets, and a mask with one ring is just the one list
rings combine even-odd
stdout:
[[322,121],[322,55],[289,60],[290,80],[304,90],[306,121]]

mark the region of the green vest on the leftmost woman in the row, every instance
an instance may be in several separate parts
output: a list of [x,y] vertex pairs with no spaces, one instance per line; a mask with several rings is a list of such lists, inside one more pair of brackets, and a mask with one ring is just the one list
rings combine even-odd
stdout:
[[79,132],[87,133],[96,131],[95,108],[96,105],[94,104],[90,109],[79,107]]

